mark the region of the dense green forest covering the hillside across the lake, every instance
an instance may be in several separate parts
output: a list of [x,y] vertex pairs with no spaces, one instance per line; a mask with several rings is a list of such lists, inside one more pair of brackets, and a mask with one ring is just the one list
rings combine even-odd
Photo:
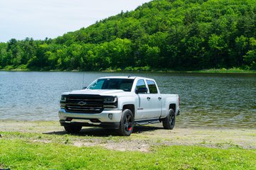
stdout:
[[233,67],[256,69],[256,0],[155,0],[58,38],[0,43],[5,70]]

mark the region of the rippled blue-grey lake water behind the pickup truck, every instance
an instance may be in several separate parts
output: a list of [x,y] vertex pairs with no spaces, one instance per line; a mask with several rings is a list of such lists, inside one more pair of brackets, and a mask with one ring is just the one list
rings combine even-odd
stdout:
[[180,128],[256,128],[256,74],[0,72],[0,120],[58,121],[63,92],[128,75],[156,79],[161,93],[180,96]]

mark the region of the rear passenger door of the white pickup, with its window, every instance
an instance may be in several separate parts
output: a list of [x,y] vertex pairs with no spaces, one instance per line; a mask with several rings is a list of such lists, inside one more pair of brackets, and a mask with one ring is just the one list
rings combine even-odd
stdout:
[[156,83],[153,80],[146,80],[146,84],[149,88],[149,94],[147,94],[147,101],[149,102],[148,118],[159,118],[161,116],[161,94],[156,88]]

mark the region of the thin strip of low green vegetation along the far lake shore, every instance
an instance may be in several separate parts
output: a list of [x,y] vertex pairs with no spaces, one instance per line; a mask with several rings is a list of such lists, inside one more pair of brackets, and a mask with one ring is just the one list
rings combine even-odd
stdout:
[[[0,69],[0,72],[89,72],[85,70],[62,70],[62,69],[53,69],[53,70],[44,70],[44,69]],[[201,69],[201,70],[183,70],[175,71],[170,69],[145,69],[144,67],[129,67],[129,69],[106,69],[92,72],[151,72],[151,73],[246,73],[246,74],[256,74],[256,70],[247,70],[240,68],[231,68],[231,69]]]

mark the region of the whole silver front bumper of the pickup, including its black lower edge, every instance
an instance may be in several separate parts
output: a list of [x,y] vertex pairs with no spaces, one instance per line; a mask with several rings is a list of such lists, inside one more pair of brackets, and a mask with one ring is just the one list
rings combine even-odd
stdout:
[[119,128],[122,111],[102,111],[102,113],[70,113],[60,108],[58,111],[60,125],[97,126]]

